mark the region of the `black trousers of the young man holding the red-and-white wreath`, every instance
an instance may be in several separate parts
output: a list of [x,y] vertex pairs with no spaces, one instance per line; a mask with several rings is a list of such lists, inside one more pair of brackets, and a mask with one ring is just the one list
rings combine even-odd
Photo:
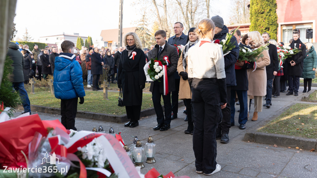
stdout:
[[[163,109],[161,105],[161,96],[164,102],[165,113],[163,113]],[[156,120],[158,124],[171,124],[171,115],[172,115],[171,92],[169,92],[167,95],[160,93],[158,81],[154,81],[152,101],[153,101],[153,106],[156,113]]]

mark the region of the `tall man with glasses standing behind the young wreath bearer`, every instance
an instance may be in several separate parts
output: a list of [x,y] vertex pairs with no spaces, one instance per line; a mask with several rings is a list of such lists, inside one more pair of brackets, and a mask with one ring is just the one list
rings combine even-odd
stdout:
[[[187,43],[187,35],[183,33],[184,26],[181,22],[176,22],[173,25],[174,33],[175,35],[172,36],[167,40],[167,43],[172,45],[186,45]],[[175,48],[175,47],[174,47]],[[179,92],[179,82],[180,82],[180,76],[178,75],[178,72],[176,71],[174,74],[175,77],[175,91],[171,92],[171,98],[172,98],[172,120],[177,118],[178,113],[178,92]]]

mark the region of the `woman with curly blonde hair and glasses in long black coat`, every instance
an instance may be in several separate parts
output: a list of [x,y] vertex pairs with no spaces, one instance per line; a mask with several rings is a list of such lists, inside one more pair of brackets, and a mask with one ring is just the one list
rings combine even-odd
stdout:
[[143,69],[146,64],[146,56],[137,34],[133,32],[127,33],[124,37],[124,42],[126,49],[120,56],[118,87],[122,87],[123,105],[126,106],[126,115],[130,119],[130,122],[124,126],[136,127],[139,125],[142,90],[146,81]]

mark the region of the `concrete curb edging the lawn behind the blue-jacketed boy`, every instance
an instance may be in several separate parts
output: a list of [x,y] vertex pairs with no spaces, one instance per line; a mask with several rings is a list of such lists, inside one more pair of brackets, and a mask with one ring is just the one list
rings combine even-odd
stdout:
[[[183,101],[178,101],[178,107],[184,106]],[[119,106],[118,106],[119,107]],[[164,111],[164,105],[162,106]],[[18,106],[16,109],[24,110],[23,106]],[[31,105],[32,113],[37,112],[44,112],[44,113],[51,113],[51,114],[61,114],[61,109],[59,108],[51,108],[46,106],[38,106],[38,105]],[[142,110],[140,113],[140,117],[151,116],[155,114],[154,107]],[[87,119],[94,119],[100,121],[107,121],[107,122],[116,122],[116,123],[124,123],[129,121],[126,117],[126,114],[123,115],[113,115],[113,114],[102,114],[102,113],[95,113],[95,112],[88,112],[88,111],[77,111],[76,114],[77,118],[87,118]]]

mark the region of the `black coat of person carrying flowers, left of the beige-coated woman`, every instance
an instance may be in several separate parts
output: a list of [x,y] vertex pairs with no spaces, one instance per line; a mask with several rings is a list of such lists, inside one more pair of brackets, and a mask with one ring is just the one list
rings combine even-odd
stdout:
[[[240,43],[239,47],[240,48],[246,47],[251,49],[249,46],[243,45],[242,43]],[[232,90],[244,90],[244,91],[249,90],[249,80],[248,80],[247,69],[252,68],[253,64],[254,64],[253,62],[250,64],[244,63],[244,65],[240,67],[241,69],[235,69],[236,86],[232,86],[231,88]]]

